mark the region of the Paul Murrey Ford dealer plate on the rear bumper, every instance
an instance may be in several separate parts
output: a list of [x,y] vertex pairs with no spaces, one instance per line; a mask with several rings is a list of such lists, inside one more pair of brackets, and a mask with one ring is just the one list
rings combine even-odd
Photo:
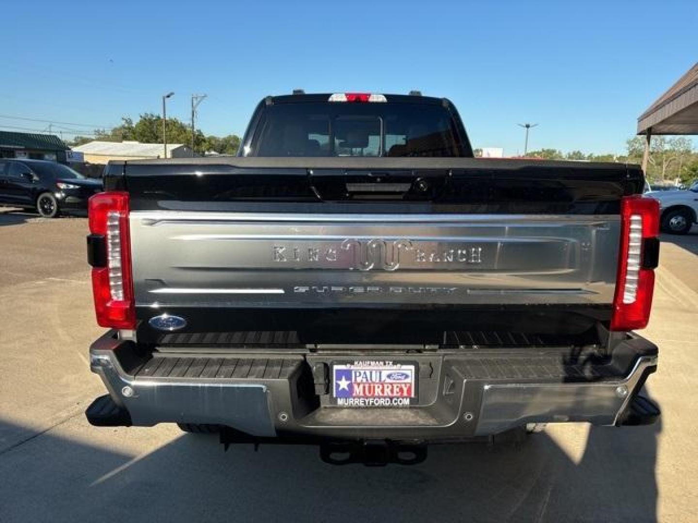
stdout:
[[409,407],[417,400],[417,364],[335,363],[332,395],[339,407]]

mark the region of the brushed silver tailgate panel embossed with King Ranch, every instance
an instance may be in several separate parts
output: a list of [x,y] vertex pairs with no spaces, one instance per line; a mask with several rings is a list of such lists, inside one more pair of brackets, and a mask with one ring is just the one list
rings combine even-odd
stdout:
[[139,307],[609,304],[617,215],[136,211]]

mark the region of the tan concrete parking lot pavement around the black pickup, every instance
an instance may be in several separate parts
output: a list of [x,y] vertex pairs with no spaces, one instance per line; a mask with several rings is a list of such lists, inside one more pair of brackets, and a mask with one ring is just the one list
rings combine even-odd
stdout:
[[662,238],[643,332],[661,423],[549,425],[519,446],[435,446],[416,467],[331,467],[311,447],[227,453],[174,425],[91,427],[87,220],[0,210],[0,522],[632,521],[698,512],[698,231]]

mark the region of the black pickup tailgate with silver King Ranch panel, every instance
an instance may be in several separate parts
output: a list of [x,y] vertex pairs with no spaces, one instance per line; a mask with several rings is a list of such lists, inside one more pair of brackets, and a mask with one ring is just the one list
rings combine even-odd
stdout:
[[607,321],[621,199],[642,184],[621,164],[468,158],[138,160],[106,179],[131,199],[140,340],[164,313],[183,333],[369,343]]

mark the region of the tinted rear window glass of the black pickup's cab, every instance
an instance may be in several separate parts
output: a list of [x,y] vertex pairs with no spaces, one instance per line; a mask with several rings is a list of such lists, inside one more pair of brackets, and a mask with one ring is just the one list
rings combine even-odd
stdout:
[[245,156],[463,156],[440,105],[290,103],[263,109]]

